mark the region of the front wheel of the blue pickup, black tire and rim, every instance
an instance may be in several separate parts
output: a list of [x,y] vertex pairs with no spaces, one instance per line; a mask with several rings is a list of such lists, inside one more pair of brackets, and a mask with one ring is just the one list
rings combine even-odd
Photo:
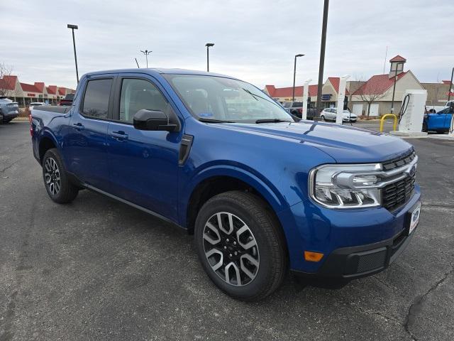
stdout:
[[208,200],[197,215],[194,239],[206,274],[233,298],[260,301],[287,274],[287,248],[279,222],[268,205],[251,193],[231,191]]

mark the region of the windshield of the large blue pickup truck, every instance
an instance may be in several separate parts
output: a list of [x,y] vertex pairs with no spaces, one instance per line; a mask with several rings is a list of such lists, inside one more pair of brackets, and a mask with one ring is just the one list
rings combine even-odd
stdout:
[[165,77],[197,119],[240,123],[293,121],[284,108],[246,82],[201,75]]

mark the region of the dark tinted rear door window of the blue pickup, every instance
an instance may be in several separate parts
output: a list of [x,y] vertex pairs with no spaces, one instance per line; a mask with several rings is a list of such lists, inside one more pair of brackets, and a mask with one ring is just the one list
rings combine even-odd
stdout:
[[96,119],[106,119],[111,86],[112,79],[89,80],[87,90],[85,90],[82,112]]

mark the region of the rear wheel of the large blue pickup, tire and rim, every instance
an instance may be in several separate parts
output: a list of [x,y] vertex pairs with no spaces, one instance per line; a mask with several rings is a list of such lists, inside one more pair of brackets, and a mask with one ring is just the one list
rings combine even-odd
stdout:
[[72,202],[79,193],[66,173],[60,153],[57,148],[46,151],[43,157],[43,180],[50,199],[59,204]]

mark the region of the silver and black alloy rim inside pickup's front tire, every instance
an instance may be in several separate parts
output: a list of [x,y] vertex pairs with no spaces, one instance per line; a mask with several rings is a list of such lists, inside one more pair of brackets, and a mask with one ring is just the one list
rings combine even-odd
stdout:
[[207,220],[204,252],[211,269],[232,286],[248,285],[258,274],[260,257],[253,232],[239,217],[218,212]]

